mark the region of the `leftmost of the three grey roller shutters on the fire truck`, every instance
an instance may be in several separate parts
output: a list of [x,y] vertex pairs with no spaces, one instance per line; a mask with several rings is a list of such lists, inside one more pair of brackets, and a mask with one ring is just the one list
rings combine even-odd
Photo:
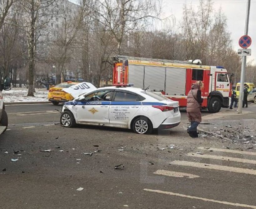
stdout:
[[134,87],[144,88],[142,82],[144,80],[144,66],[129,64],[128,70],[129,83],[132,83]]

